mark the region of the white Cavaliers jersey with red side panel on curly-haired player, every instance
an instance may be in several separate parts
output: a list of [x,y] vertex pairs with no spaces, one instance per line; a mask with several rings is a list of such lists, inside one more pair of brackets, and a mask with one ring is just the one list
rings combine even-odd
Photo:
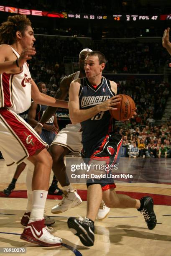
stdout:
[[[10,46],[11,47],[11,46]],[[20,57],[12,47],[17,58]],[[31,74],[25,62],[22,70],[16,74],[0,74],[0,108],[8,108],[22,113],[31,105]]]

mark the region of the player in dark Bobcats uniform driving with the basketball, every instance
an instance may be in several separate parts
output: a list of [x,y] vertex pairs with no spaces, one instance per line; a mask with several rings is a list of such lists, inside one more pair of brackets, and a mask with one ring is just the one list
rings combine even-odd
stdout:
[[[120,102],[117,84],[102,77],[106,59],[100,51],[92,51],[85,59],[86,77],[71,82],[69,91],[69,113],[72,123],[82,125],[82,143],[85,160],[89,164],[115,164],[119,153],[122,136],[113,133],[112,117],[109,110],[117,110]],[[104,170],[104,169],[103,169]],[[98,174],[102,172],[100,169]],[[153,212],[153,199],[143,197],[133,199],[115,192],[112,178],[95,178],[87,180],[87,216],[86,218],[68,219],[71,231],[79,236],[85,246],[94,245],[94,221],[102,198],[110,208],[136,208],[145,218],[149,229],[156,226]]]

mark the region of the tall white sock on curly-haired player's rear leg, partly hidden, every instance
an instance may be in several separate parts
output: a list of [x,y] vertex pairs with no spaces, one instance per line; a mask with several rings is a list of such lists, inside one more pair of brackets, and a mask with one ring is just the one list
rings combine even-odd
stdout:
[[32,191],[32,179],[33,179],[34,169],[28,167],[26,175],[26,187],[27,187],[27,207],[26,212],[31,212],[32,202],[33,202],[33,191]]

